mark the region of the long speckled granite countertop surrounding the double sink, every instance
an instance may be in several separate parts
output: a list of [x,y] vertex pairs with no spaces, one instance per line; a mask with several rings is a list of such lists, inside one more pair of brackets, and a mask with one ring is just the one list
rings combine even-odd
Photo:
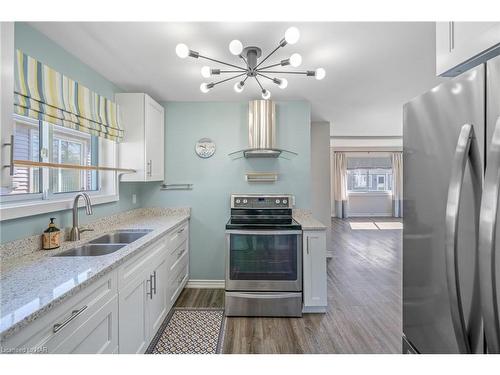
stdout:
[[[56,250],[36,250],[39,236],[3,244],[0,247],[0,339],[45,315],[189,217],[189,208],[143,208],[90,223],[86,227],[93,227],[94,232],[85,232],[86,236],[78,242],[63,242]],[[108,255],[52,257],[113,230],[141,228],[153,231]]]

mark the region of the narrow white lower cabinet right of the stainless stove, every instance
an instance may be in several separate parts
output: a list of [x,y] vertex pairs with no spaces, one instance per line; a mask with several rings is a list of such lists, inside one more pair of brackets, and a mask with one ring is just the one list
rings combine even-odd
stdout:
[[303,312],[325,312],[326,292],[326,232],[303,232]]

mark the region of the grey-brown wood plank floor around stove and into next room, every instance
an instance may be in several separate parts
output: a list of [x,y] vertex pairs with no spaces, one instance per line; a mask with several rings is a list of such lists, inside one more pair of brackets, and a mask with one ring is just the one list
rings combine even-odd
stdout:
[[[401,230],[352,230],[332,219],[328,311],[302,318],[227,318],[224,353],[400,353]],[[185,289],[179,307],[222,307],[222,289]]]

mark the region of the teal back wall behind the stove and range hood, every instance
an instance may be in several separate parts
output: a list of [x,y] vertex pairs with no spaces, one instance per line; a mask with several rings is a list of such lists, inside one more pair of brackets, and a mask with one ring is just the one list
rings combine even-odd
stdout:
[[[292,160],[239,159],[228,154],[248,147],[247,102],[168,102],[165,107],[165,175],[170,183],[192,183],[190,191],[142,187],[141,204],[192,208],[190,251],[192,279],[224,279],[224,226],[231,193],[291,193],[296,207],[311,205],[310,105],[277,103],[277,144],[299,155]],[[217,144],[209,159],[196,156],[198,139]],[[278,172],[275,184],[248,184],[245,172]]]

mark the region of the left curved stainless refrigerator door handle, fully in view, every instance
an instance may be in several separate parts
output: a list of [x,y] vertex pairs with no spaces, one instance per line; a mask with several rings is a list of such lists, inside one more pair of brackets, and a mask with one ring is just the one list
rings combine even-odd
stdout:
[[[460,278],[458,267],[458,224],[460,213],[460,198],[462,195],[463,179],[466,171],[467,160],[470,162],[475,210],[475,227],[478,231],[479,208],[481,203],[481,190],[483,184],[483,172],[479,146],[471,124],[462,126],[457,141],[451,179],[448,186],[448,199],[446,204],[446,279],[448,283],[448,295],[450,299],[450,312],[461,353],[473,353],[479,341],[481,329],[481,314],[478,310],[479,288],[477,268],[475,270],[473,304],[471,315],[467,326],[464,317],[462,295],[460,290]],[[477,246],[474,249],[477,259]],[[474,303],[474,301],[477,301]]]

